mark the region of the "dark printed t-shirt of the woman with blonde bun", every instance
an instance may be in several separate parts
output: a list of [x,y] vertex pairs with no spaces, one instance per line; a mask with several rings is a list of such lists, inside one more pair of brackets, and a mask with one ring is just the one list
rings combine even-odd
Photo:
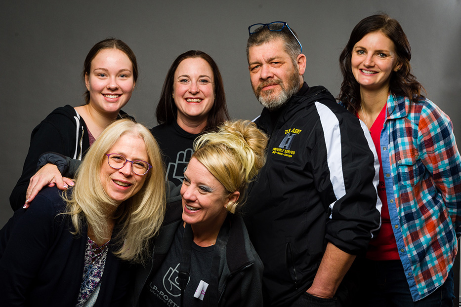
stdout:
[[[140,302],[144,306],[179,306],[181,289],[178,282],[179,263],[182,252],[183,223],[180,223],[167,257],[146,282]],[[210,282],[211,264],[213,260],[214,245],[201,247],[192,242],[189,281],[184,291],[184,306],[202,306],[202,300],[195,298],[196,291],[203,290],[203,284]],[[201,284],[201,281],[202,284]],[[199,287],[200,285],[200,287]],[[204,294],[206,295],[206,293]]]

